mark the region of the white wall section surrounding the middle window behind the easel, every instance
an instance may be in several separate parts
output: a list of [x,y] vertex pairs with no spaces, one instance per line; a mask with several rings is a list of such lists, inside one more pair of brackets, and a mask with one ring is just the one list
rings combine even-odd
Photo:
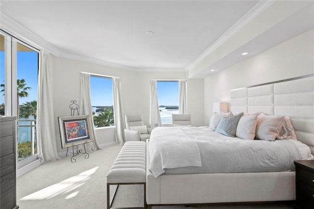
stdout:
[[[80,105],[80,72],[119,77],[121,79],[122,97],[125,98],[125,102],[128,104],[124,106],[125,110],[128,112],[135,108],[136,103],[131,99],[131,95],[136,91],[132,82],[134,79],[132,71],[63,57],[54,57],[53,60],[53,110],[58,153],[64,152],[64,150],[61,149],[57,117],[71,115],[69,108],[71,100],[77,100],[77,104]],[[110,89],[110,91],[112,90]],[[114,128],[101,128],[96,131],[96,134],[101,145],[110,144],[115,140]]]

